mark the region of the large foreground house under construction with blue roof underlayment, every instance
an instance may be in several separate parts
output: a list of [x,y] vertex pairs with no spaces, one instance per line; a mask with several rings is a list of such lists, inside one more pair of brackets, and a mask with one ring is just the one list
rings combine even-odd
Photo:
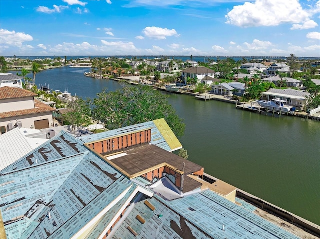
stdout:
[[163,119],[80,138],[61,131],[0,171],[0,229],[7,239],[299,239],[169,152],[181,147]]

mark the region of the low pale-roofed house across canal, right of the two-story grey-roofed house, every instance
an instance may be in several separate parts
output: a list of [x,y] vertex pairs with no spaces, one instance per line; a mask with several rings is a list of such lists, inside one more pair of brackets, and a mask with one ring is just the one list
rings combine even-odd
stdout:
[[212,85],[212,93],[225,96],[242,96],[245,92],[245,84],[240,82],[220,83]]

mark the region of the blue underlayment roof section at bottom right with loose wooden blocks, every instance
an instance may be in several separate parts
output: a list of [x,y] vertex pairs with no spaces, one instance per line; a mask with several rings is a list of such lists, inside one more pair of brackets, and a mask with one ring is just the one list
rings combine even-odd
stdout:
[[113,234],[122,239],[300,239],[211,190],[171,201],[157,195],[140,201]]

